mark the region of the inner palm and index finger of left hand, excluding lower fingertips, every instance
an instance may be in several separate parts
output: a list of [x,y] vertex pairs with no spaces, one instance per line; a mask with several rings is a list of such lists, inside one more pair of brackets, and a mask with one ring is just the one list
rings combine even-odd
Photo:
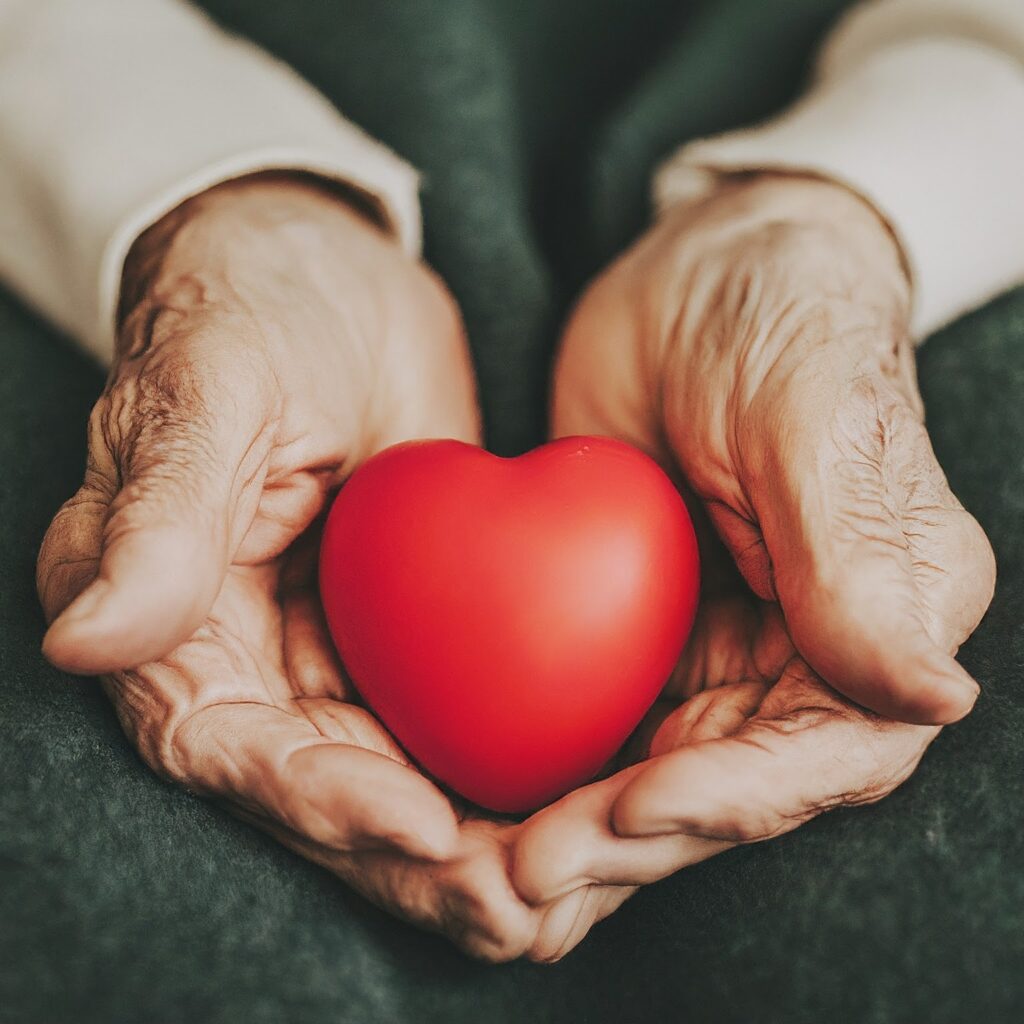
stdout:
[[[190,787],[334,847],[356,841],[374,816],[385,835],[430,853],[451,812],[351,702],[319,621],[314,541],[233,564],[188,640],[109,686],[146,760]],[[368,774],[379,807],[369,806]]]

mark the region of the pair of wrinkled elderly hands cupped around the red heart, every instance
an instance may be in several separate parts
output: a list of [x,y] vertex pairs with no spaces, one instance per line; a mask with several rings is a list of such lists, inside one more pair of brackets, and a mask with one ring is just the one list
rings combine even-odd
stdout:
[[909,293],[869,206],[784,175],[678,206],[589,289],[553,432],[673,475],[700,609],[620,763],[510,821],[409,762],[316,591],[362,461],[480,440],[456,303],[315,183],[211,189],[128,259],[85,481],[39,559],[44,651],[103,678],[160,774],[474,955],[557,959],[639,886],[886,796],[973,706],[953,655],[994,564],[924,426]]

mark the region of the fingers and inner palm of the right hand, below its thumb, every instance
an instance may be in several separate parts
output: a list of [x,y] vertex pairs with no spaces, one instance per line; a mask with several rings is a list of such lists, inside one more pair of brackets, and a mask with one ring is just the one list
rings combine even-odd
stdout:
[[824,683],[779,606],[750,590],[699,510],[694,519],[701,600],[683,657],[613,773],[523,826],[513,878],[531,900],[647,884],[879,800],[939,731],[884,719]]

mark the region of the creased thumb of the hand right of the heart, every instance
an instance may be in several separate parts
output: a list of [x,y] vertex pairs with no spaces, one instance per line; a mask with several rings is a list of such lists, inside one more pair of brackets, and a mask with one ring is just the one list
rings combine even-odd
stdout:
[[804,409],[766,467],[756,504],[779,601],[798,650],[851,699],[952,722],[978,695],[953,653],[991,598],[990,549],[912,410],[881,384],[849,391],[841,415]]

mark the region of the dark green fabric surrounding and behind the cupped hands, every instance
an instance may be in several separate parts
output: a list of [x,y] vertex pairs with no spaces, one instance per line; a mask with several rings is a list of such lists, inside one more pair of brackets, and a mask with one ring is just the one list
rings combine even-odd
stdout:
[[[642,226],[653,162],[783,103],[842,4],[208,6],[424,169],[427,253],[508,453],[541,436],[557,325]],[[43,664],[35,551],[100,375],[0,294],[0,1022],[1024,1019],[1024,290],[920,367],[940,458],[999,559],[963,651],[975,714],[879,807],[650,886],[557,966],[495,968],[159,781],[98,690]]]

